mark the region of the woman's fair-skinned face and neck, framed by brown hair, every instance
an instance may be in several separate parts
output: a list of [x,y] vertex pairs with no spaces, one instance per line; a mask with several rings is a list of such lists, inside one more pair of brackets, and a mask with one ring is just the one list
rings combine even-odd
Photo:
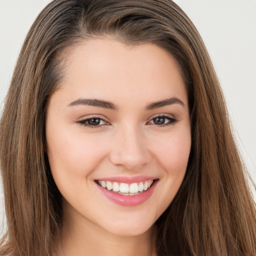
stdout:
[[[106,38],[65,53],[46,117],[47,154],[63,196],[58,255],[156,255],[153,224],[180,187],[191,144],[176,62],[154,44]],[[136,183],[135,191],[102,181]]]

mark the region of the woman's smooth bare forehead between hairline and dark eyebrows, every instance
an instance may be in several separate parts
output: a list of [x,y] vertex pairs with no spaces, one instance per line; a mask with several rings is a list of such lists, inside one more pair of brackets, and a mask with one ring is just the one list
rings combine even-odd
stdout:
[[176,60],[155,44],[127,46],[113,39],[90,39],[62,54],[65,64],[61,89],[69,96],[119,102],[179,96],[187,104]]

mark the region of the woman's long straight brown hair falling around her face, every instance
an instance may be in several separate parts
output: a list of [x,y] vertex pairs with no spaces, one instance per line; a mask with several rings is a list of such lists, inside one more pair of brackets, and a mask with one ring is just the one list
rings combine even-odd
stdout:
[[53,0],[38,15],[0,121],[0,254],[50,255],[62,210],[44,150],[47,99],[64,75],[62,49],[101,36],[168,50],[187,85],[191,151],[181,187],[156,221],[158,255],[256,255],[255,203],[222,91],[196,28],[171,0]]

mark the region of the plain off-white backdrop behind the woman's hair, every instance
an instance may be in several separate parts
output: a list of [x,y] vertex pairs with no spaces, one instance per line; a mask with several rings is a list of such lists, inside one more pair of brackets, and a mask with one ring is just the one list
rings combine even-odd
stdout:
[[[25,35],[48,2],[0,0],[0,113]],[[175,2],[194,22],[206,44],[224,91],[239,150],[255,182],[256,0]],[[255,191],[253,194],[256,198]],[[4,230],[4,223],[0,185],[0,233]]]

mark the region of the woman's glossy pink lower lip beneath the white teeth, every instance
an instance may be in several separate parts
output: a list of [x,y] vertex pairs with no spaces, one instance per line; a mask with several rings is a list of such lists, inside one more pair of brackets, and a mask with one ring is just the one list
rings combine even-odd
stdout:
[[154,180],[153,184],[147,190],[136,195],[118,194],[103,188],[97,183],[95,184],[97,185],[99,190],[103,193],[103,195],[110,201],[122,206],[136,206],[136,205],[142,204],[151,196],[157,182],[158,182],[158,179]]

